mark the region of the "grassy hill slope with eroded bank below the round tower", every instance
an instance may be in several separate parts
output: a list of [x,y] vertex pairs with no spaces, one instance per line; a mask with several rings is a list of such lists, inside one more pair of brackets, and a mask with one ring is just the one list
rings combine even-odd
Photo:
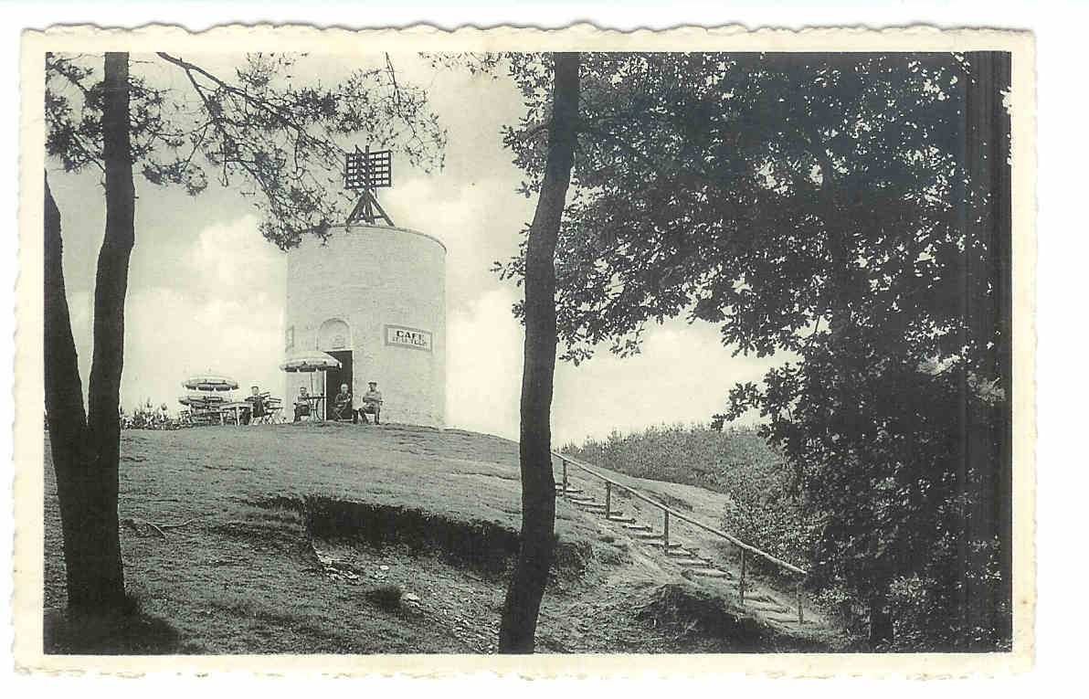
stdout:
[[[122,553],[139,622],[88,640],[93,631],[65,620],[47,444],[48,650],[494,651],[521,522],[516,443],[458,430],[302,424],[126,431],[121,451]],[[692,486],[633,482],[709,518],[730,502]],[[834,629],[790,633],[738,609],[567,502],[558,503],[556,534],[541,651],[836,642]]]

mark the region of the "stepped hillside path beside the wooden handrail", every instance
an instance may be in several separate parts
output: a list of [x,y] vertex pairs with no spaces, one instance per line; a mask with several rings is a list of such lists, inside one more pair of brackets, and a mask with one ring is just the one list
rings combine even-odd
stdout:
[[713,587],[725,587],[737,596],[743,606],[758,612],[769,622],[793,628],[813,624],[815,614],[810,608],[803,605],[799,614],[797,601],[783,602],[779,592],[767,589],[764,586],[755,585],[751,578],[745,580],[743,591],[742,576],[737,572],[731,569],[725,563],[718,563],[701,555],[698,548],[681,543],[675,534],[666,535],[665,531],[656,531],[650,525],[640,523],[635,517],[626,516],[623,511],[614,508],[612,502],[609,503],[607,512],[605,503],[599,502],[596,496],[589,494],[586,483],[582,479],[572,478],[568,475],[565,492],[562,478],[558,478],[555,493],[577,510],[604,518],[636,542],[652,550],[668,564],[681,568],[680,573],[683,577],[693,581],[706,580]]

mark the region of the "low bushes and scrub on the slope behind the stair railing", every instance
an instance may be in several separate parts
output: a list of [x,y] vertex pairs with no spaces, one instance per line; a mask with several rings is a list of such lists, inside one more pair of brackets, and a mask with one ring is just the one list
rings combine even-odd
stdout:
[[[614,431],[608,439],[588,439],[580,445],[568,444],[564,451],[631,476],[698,486],[726,495],[718,524],[743,541],[809,571],[806,586],[813,601],[856,639],[859,648],[866,647],[862,639],[870,623],[867,600],[842,578],[821,575],[824,562],[816,551],[824,517],[806,514],[798,474],[755,429],[659,426],[632,434]],[[949,555],[942,551],[930,553],[935,560]],[[769,578],[781,573],[759,559],[754,563]],[[999,579],[994,565],[982,575]],[[963,648],[950,621],[950,601],[933,580],[918,575],[897,577],[891,586],[889,604],[896,620],[896,638],[869,649],[918,652]],[[1000,611],[1008,614],[1004,608]],[[1008,637],[1002,638],[991,629],[979,629],[974,638],[982,647],[1010,648]]]

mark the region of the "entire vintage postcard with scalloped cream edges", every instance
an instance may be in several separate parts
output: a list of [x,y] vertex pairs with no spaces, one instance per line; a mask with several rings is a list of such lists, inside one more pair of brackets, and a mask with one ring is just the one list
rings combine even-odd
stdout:
[[20,667],[1031,667],[1031,35],[69,26],[21,89]]

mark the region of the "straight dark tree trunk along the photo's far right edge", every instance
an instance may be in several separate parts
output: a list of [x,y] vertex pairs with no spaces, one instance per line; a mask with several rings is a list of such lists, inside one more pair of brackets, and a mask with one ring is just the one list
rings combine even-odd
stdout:
[[[963,459],[958,494],[968,503],[962,523],[958,602],[963,646],[975,650],[977,629],[994,629],[1011,638],[1008,610],[1013,600],[1013,338],[1012,338],[1012,209],[1010,114],[1002,91],[1011,85],[1011,58],[999,51],[966,54],[969,66],[965,81],[964,161],[974,192],[987,199],[966,207],[963,225],[968,241],[981,244],[986,255],[965,252],[966,290],[990,287],[987,296],[964,299],[964,316],[979,342],[993,347],[974,371],[981,378],[998,379],[1005,404],[995,415],[965,414],[962,418],[966,455]],[[965,379],[967,377],[965,376]],[[966,389],[967,390],[967,389]],[[999,541],[1002,579],[981,575],[990,552],[971,545],[976,541]]]

